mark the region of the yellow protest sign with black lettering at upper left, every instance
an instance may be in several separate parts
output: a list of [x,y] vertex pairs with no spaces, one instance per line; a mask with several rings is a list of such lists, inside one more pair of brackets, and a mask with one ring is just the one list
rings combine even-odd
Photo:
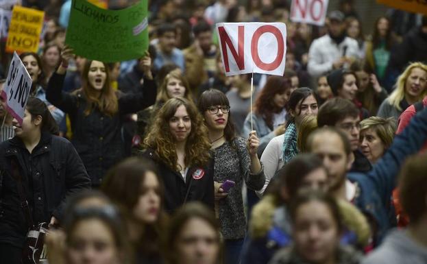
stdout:
[[37,52],[45,12],[15,5],[10,19],[6,51]]

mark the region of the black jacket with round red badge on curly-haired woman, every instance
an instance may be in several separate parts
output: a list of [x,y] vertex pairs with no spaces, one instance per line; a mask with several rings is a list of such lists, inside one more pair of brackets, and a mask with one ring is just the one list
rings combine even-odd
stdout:
[[168,213],[173,213],[185,202],[190,201],[202,202],[214,210],[213,159],[206,167],[190,167],[184,182],[181,173],[164,164],[153,149],[147,149],[142,156],[153,160],[158,167],[164,184],[164,207]]

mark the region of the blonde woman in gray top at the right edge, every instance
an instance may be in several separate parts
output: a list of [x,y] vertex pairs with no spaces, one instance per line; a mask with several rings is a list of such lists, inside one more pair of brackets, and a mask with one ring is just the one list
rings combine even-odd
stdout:
[[421,101],[427,95],[427,65],[413,62],[398,77],[393,93],[378,110],[378,117],[394,117],[396,120],[406,108]]

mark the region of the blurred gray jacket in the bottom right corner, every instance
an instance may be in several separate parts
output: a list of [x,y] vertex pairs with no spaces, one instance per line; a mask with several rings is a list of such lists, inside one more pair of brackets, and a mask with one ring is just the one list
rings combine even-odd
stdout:
[[380,248],[362,264],[426,264],[427,248],[416,243],[406,230],[393,230]]

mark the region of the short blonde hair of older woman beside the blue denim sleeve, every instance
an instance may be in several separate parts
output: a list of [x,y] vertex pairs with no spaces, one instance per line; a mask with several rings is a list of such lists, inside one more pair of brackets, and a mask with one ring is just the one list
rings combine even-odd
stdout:
[[396,121],[393,117],[387,119],[382,117],[369,117],[361,121],[361,134],[363,131],[372,129],[378,134],[378,137],[388,149],[393,143],[394,134],[396,132]]

